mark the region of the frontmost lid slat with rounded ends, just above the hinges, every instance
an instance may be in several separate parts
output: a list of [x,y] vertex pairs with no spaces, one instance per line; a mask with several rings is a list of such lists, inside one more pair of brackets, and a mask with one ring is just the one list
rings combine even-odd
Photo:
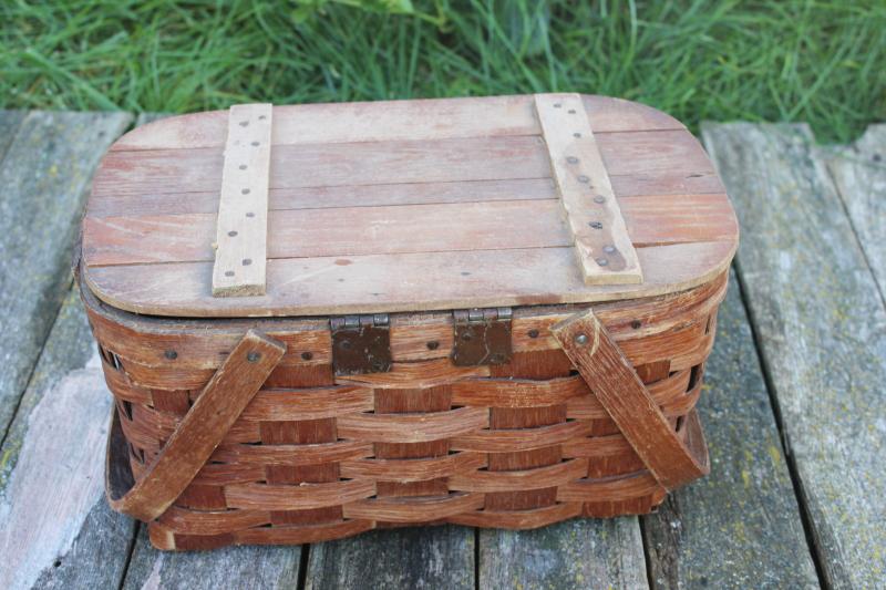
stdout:
[[93,268],[85,280],[114,307],[159,315],[424,311],[681,291],[719,276],[734,247],[718,241],[641,248],[642,284],[586,286],[571,248],[276,259],[268,262],[267,294],[254,298],[213,298],[208,262]]

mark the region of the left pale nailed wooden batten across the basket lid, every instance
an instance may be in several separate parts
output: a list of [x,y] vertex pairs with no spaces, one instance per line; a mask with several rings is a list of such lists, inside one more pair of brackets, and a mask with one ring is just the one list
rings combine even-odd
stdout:
[[213,296],[265,294],[270,104],[230,107],[216,222]]

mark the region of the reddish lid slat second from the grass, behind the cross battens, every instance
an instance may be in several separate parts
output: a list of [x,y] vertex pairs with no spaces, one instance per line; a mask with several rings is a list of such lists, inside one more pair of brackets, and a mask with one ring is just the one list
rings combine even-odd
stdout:
[[[722,192],[719,182],[714,188],[699,184],[715,174],[701,145],[686,131],[600,133],[596,139],[617,196]],[[92,199],[218,192],[223,164],[222,147],[111,152],[95,177]],[[537,135],[289,144],[271,149],[269,187],[353,189],[550,176],[547,148]]]

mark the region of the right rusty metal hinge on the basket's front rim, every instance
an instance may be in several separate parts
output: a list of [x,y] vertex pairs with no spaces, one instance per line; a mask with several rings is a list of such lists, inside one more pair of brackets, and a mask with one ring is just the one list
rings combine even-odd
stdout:
[[511,361],[511,308],[455,310],[452,364],[475,366]]

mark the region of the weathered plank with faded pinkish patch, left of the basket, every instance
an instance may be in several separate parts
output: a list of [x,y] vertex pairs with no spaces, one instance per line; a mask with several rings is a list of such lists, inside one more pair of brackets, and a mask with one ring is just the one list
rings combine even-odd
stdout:
[[104,498],[111,404],[72,290],[1,451],[0,588],[120,584],[135,526]]

